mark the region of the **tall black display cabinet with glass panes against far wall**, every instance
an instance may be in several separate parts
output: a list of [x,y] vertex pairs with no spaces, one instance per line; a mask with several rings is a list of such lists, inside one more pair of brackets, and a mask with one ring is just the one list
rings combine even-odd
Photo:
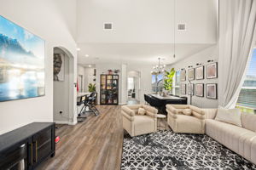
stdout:
[[101,75],[101,105],[119,104],[119,75]]

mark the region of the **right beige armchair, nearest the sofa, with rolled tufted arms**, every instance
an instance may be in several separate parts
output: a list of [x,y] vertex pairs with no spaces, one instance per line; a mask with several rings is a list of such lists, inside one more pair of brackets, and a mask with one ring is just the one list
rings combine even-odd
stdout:
[[[190,116],[183,115],[190,109]],[[174,133],[205,133],[205,112],[193,105],[166,105],[167,123]]]

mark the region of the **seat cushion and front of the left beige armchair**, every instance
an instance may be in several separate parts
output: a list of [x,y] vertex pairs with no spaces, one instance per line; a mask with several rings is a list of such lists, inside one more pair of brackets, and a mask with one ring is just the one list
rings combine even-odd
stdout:
[[135,135],[154,132],[154,118],[150,116],[134,117],[134,133]]

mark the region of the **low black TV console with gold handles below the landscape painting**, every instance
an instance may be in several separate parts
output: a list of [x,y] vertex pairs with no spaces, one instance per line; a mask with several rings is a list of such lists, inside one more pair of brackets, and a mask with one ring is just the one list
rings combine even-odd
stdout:
[[32,122],[0,135],[0,169],[34,169],[55,156],[55,123]]

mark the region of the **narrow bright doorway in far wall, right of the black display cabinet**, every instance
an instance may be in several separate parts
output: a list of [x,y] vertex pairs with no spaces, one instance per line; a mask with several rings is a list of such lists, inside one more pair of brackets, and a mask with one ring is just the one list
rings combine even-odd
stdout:
[[136,105],[140,103],[140,76],[140,71],[129,71],[127,74],[128,105]]

